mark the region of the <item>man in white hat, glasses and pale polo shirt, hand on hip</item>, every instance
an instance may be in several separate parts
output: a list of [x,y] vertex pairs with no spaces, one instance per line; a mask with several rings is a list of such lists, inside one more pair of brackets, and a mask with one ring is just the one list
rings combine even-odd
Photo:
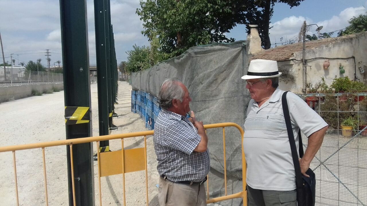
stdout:
[[[251,96],[243,139],[248,206],[297,205],[295,168],[281,101],[284,91],[278,88],[280,75],[276,61],[255,59],[241,77]],[[294,93],[288,92],[286,98],[297,151],[299,129],[308,137],[307,149],[299,158],[301,173],[308,176],[306,170],[328,125]]]

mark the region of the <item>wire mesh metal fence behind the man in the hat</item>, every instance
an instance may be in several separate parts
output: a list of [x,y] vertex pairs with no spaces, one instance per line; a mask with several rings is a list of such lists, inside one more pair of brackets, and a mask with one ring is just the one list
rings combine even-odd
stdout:
[[[310,168],[316,174],[316,205],[367,206],[366,93],[303,94],[329,124],[324,142]],[[316,99],[312,99],[317,96]],[[311,101],[312,100],[312,101]],[[356,126],[341,129],[352,117]],[[360,126],[360,127],[359,127]],[[307,138],[302,135],[304,146]]]

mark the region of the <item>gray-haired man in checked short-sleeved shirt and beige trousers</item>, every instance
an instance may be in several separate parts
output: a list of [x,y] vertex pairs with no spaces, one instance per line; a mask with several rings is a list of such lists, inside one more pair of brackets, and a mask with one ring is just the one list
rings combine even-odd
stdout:
[[[204,182],[209,172],[208,137],[203,122],[190,111],[185,85],[172,78],[159,89],[162,108],[154,126],[154,149],[160,175],[160,206],[204,206]],[[192,118],[192,119],[191,119]]]

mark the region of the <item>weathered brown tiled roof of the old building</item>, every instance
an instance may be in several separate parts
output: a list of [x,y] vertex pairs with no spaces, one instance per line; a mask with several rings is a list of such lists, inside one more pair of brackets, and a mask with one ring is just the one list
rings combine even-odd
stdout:
[[[324,38],[324,39],[319,39],[319,40],[306,41],[305,48],[311,49],[311,48],[319,47],[321,45],[336,44],[341,41],[345,41],[351,38],[356,38],[356,37],[364,36],[364,35],[367,36],[367,32],[350,34],[350,35],[341,36],[341,37]],[[249,57],[248,60],[249,61],[251,61],[252,59],[267,59],[267,60],[275,60],[275,61],[289,60],[294,57],[295,52],[299,52],[299,51],[302,51],[302,42],[281,45],[275,48],[262,50],[259,53],[255,54],[254,56]]]

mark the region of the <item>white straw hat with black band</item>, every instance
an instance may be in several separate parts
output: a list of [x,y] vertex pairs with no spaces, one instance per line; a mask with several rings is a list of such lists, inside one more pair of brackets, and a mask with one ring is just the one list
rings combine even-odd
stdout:
[[248,66],[247,74],[241,79],[259,79],[259,78],[270,78],[279,77],[281,72],[278,70],[276,61],[265,60],[265,59],[254,59],[251,60],[250,66]]

